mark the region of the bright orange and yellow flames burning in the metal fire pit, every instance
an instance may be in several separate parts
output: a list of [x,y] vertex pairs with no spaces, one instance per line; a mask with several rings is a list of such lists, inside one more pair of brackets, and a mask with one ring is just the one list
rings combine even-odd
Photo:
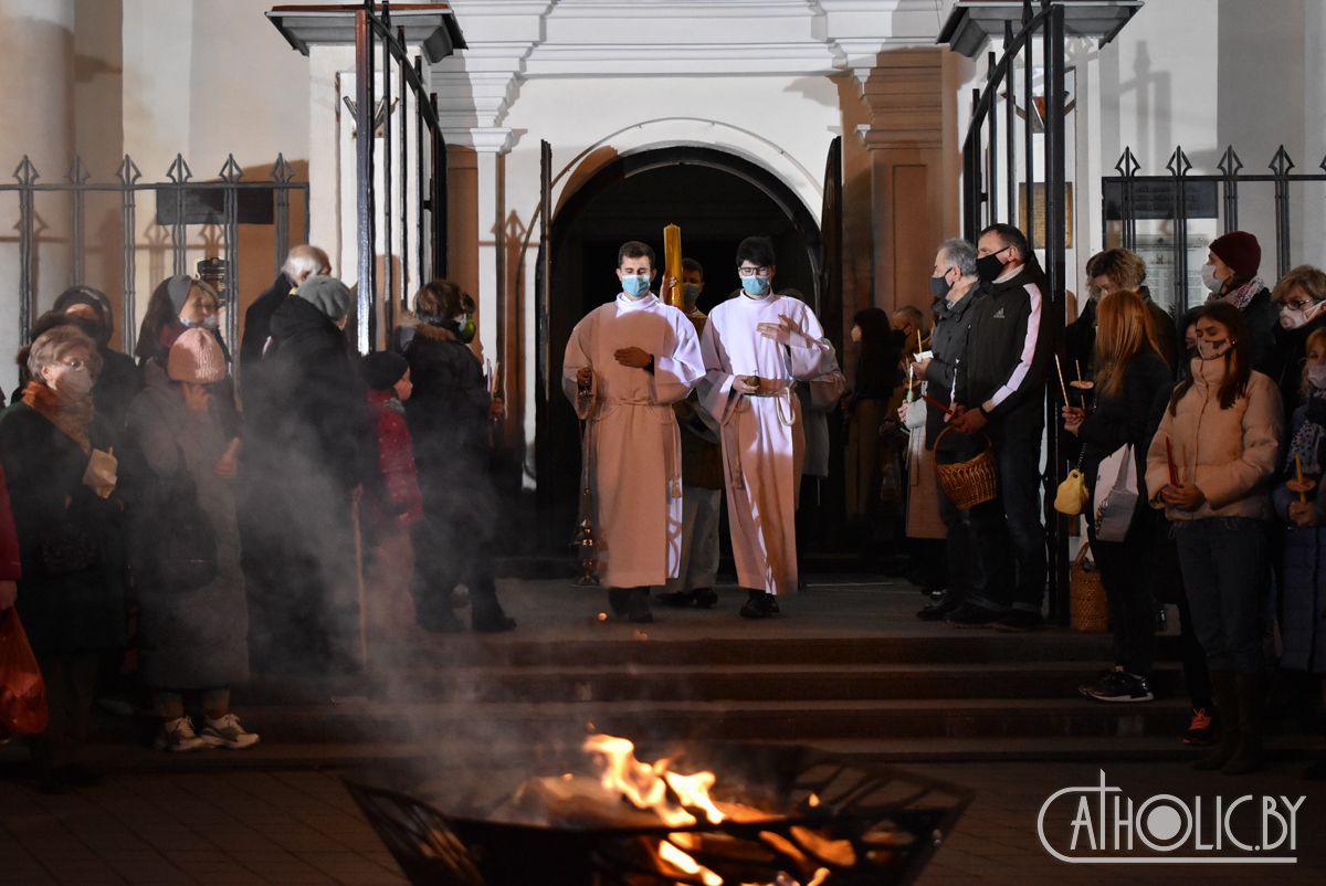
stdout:
[[[619,794],[636,809],[652,812],[670,828],[688,828],[699,822],[697,814],[712,825],[733,818],[737,821],[760,821],[770,816],[756,809],[736,804],[719,804],[709,796],[716,777],[712,772],[682,775],[670,771],[672,760],[663,757],[654,763],[635,759],[635,744],[629,739],[611,735],[591,735],[585,740],[585,751],[595,755],[602,763],[599,784],[610,794]],[[812,797],[812,805],[818,805],[818,797]],[[692,812],[693,810],[693,812]],[[843,852],[851,854],[847,841],[830,841],[818,837],[808,829],[797,829],[797,837],[813,846],[818,854]],[[805,859],[800,852],[782,837],[762,832],[761,838],[770,846],[793,857]],[[655,854],[662,870],[675,869],[691,877],[699,877],[704,886],[724,886],[723,877],[697,862],[686,849],[696,848],[696,837],[690,833],[671,833],[659,841]],[[845,859],[851,863],[851,859]],[[829,879],[829,869],[818,867],[804,886],[822,886]],[[740,886],[802,886],[798,881],[780,874],[774,883],[741,883]]]

